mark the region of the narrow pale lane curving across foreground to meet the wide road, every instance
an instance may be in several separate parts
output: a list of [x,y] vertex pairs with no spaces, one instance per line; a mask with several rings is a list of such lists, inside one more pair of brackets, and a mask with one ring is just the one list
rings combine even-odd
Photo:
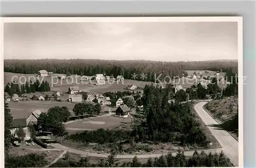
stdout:
[[[80,151],[80,150],[77,150],[77,149],[74,149],[74,148],[63,146],[59,143],[52,143],[51,146],[56,148],[56,149],[59,149],[59,150],[62,150],[62,151],[68,151],[68,152],[78,154],[78,155],[81,155],[81,156],[90,156],[90,157],[98,157],[98,158],[108,158],[108,156],[109,156],[109,154],[97,154],[97,153],[90,153],[90,152]],[[222,149],[211,149],[211,150],[203,150],[203,151],[205,151],[206,153],[209,153],[209,152],[219,153],[219,152],[221,152],[221,150]],[[198,152],[200,153],[201,150],[198,150]],[[137,156],[138,158],[155,158],[155,157],[161,156],[162,154],[166,155],[167,153],[152,154],[152,155],[117,155],[116,158],[117,159],[132,159],[132,158],[134,158],[134,156]],[[174,156],[176,154],[177,154],[177,152],[173,153]],[[192,156],[194,154],[194,151],[186,151],[186,152],[184,152],[184,154],[186,156]]]

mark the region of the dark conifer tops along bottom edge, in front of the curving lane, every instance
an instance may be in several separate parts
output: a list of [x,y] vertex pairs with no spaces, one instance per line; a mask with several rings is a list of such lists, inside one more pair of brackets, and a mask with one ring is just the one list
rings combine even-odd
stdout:
[[81,158],[76,161],[69,154],[62,159],[59,159],[51,167],[232,167],[234,166],[229,158],[227,158],[223,152],[220,154],[206,154],[201,152],[200,154],[195,151],[193,156],[186,159],[183,152],[178,152],[176,156],[172,153],[167,155],[161,155],[154,159],[149,158],[145,163],[142,163],[137,156],[129,162],[118,162],[115,158],[116,153],[111,150],[111,154],[108,159],[99,159],[98,163],[91,163],[90,157]]

